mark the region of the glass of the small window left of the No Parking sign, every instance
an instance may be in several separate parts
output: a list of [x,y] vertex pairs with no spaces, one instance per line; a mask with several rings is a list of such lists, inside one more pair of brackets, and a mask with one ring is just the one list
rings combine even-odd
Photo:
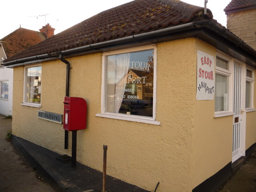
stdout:
[[40,103],[42,67],[27,68],[26,74],[26,102]]

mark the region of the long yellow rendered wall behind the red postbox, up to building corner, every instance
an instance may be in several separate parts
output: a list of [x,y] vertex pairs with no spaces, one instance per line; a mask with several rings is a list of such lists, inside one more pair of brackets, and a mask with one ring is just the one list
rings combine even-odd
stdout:
[[[88,104],[87,128],[77,133],[77,160],[102,171],[103,145],[108,145],[109,175],[151,191],[157,182],[159,192],[191,191],[195,54],[194,38],[157,45],[156,120],[160,126],[96,117],[101,105],[102,54],[68,58],[70,96],[85,98]],[[13,134],[71,155],[70,149],[64,150],[62,125],[38,119],[38,108],[20,105],[24,68],[14,71]],[[42,64],[40,110],[63,114],[65,78],[64,63]]]

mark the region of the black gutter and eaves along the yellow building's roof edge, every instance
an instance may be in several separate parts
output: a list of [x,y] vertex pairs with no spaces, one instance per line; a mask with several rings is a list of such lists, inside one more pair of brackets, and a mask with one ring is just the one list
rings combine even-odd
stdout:
[[248,46],[240,38],[228,31],[224,26],[214,22],[213,20],[198,20],[178,26],[172,26],[159,30],[99,42],[78,48],[54,52],[50,54],[42,54],[28,58],[22,58],[6,62],[3,65],[8,68],[17,66],[25,66],[38,62],[46,62],[57,60],[62,54],[65,58],[74,57],[84,54],[92,54],[103,52],[104,50],[118,48],[121,46],[136,46],[141,44],[164,42],[181,38],[197,37],[218,50],[256,68],[256,51]]

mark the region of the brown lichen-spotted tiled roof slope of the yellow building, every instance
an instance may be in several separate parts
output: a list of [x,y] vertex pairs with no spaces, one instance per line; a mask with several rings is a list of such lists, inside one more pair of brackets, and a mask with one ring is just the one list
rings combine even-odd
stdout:
[[[134,0],[88,18],[6,62],[184,24],[200,18],[203,11],[180,0]],[[206,18],[212,19],[210,10]]]

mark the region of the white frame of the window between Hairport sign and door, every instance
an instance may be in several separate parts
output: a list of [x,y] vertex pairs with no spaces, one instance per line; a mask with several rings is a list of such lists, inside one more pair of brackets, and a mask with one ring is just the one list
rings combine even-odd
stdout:
[[[226,61],[228,61],[229,64],[229,70],[226,70],[224,68],[218,67],[217,63],[215,64],[215,73],[228,76],[228,110],[226,111],[215,111],[215,105],[214,105],[214,117],[223,117],[223,116],[230,116],[234,115],[233,112],[233,73],[234,70],[234,60],[230,58],[228,55],[222,53],[222,52],[216,52],[216,57],[222,58]],[[217,62],[217,58],[215,60]],[[216,78],[216,76],[215,76]],[[216,89],[215,89],[216,91]],[[215,100],[214,100],[215,101]]]

